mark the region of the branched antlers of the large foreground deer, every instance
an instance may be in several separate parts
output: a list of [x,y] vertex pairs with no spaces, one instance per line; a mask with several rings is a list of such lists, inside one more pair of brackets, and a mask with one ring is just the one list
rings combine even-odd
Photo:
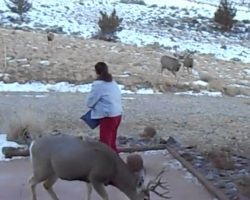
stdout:
[[[169,188],[166,185],[166,181],[162,181],[162,175],[165,172],[165,168],[163,168],[153,180],[150,180],[146,186],[148,191],[152,191],[155,193],[157,196],[164,198],[164,199],[170,199],[167,194],[169,193]],[[159,192],[157,191],[157,188],[161,188],[164,190],[164,192]]]

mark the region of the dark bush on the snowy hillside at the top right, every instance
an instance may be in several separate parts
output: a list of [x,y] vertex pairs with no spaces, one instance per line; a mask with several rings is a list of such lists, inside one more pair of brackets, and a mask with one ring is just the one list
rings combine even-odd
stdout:
[[229,31],[234,24],[236,8],[228,0],[221,0],[217,11],[214,13],[214,21],[221,25],[222,30]]

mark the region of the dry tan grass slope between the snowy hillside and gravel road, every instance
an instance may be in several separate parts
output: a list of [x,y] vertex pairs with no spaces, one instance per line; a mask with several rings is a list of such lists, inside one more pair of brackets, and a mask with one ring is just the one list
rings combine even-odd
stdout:
[[[55,35],[53,45],[49,47],[46,33],[6,29],[0,29],[0,32],[7,47],[8,67],[4,69],[0,66],[0,73],[5,73],[0,80],[5,82],[37,80],[49,83],[89,83],[95,78],[93,67],[98,61],[108,63],[114,78],[127,89],[136,90],[146,84],[165,92],[169,91],[166,83],[176,81],[172,74],[164,72],[162,75],[160,72],[161,56],[170,53],[160,47],[148,45],[138,48],[61,35]],[[4,63],[3,54],[0,59]],[[180,84],[192,83],[200,78],[219,80],[222,85],[234,84],[239,80],[248,81],[248,77],[242,72],[248,68],[247,64],[222,61],[204,54],[196,54],[194,59],[194,70],[201,77],[180,70]]]

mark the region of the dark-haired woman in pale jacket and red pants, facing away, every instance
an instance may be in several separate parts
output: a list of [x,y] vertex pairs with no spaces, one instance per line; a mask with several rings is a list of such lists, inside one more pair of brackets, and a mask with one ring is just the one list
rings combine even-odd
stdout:
[[97,79],[92,83],[87,106],[91,109],[91,118],[100,119],[100,141],[118,153],[116,137],[122,117],[121,91],[106,63],[98,62],[95,72]]

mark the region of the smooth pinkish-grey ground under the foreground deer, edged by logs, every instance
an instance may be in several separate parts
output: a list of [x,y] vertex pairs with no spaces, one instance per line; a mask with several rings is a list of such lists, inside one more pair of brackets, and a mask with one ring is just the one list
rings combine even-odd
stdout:
[[[163,166],[166,166],[163,180],[167,180],[168,182],[170,189],[169,196],[172,197],[172,200],[214,199],[185,169],[178,167],[178,163],[176,163],[167,152],[144,154],[143,159],[147,170],[146,180],[153,179],[155,174],[157,174]],[[155,163],[157,163],[157,166]],[[30,189],[27,183],[30,175],[31,165],[29,159],[0,162],[0,199],[31,199]],[[13,178],[15,181],[13,181]],[[55,192],[58,194],[60,200],[80,200],[86,197],[85,184],[77,181],[69,182],[58,180],[55,184]],[[111,186],[108,187],[108,194],[110,200],[127,199],[124,194]],[[42,184],[37,186],[37,195],[38,200],[49,199],[48,194],[42,188]],[[97,200],[100,198],[96,192],[93,192],[92,199]],[[151,194],[151,199],[159,199],[159,197]]]

